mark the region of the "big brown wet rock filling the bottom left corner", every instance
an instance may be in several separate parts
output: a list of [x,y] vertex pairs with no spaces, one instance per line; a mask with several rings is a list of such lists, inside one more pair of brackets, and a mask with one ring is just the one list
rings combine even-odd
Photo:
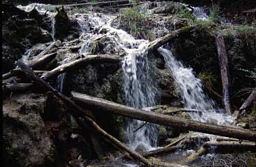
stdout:
[[44,131],[45,97],[18,95],[3,102],[3,154],[6,166],[56,166],[55,146]]

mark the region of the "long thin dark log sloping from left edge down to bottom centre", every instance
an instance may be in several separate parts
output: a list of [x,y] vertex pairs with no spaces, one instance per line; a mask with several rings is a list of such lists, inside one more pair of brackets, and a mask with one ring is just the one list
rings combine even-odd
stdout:
[[149,162],[149,160],[147,160],[145,157],[142,157],[142,155],[140,155],[139,153],[136,153],[135,151],[132,151],[131,149],[129,149],[129,147],[127,147],[122,142],[120,142],[119,140],[114,138],[114,136],[107,134],[107,132],[105,132],[103,129],[101,129],[101,127],[99,127],[99,125],[97,123],[95,123],[94,120],[88,116],[88,114],[85,110],[83,110],[81,107],[77,106],[77,104],[75,104],[75,102],[70,100],[68,97],[66,97],[62,93],[58,92],[53,87],[51,87],[51,85],[49,85],[47,82],[42,80],[42,78],[40,78],[39,76],[36,76],[36,74],[33,72],[33,70],[31,70],[31,68],[29,68],[27,65],[25,65],[25,63],[23,63],[21,60],[19,60],[17,62],[17,65],[18,65],[18,67],[21,68],[21,70],[23,70],[23,72],[25,72],[25,74],[27,74],[27,76],[29,78],[31,78],[31,80],[34,80],[35,84],[39,85],[46,91],[52,91],[57,97],[59,97],[61,100],[63,100],[68,106],[73,108],[74,110],[73,110],[73,112],[71,112],[71,115],[73,115],[73,117],[75,117],[75,119],[77,120],[77,123],[79,123],[82,127],[84,127],[85,125],[84,125],[84,121],[81,121],[81,118],[84,118],[86,120],[86,122],[90,126],[92,126],[93,129],[96,130],[96,132],[98,132],[98,134],[101,137],[103,137],[107,142],[110,142],[111,145],[114,145],[114,147],[120,149],[120,151],[125,151],[125,152],[129,153],[129,155],[134,160],[137,160],[146,166],[150,166],[151,163]]

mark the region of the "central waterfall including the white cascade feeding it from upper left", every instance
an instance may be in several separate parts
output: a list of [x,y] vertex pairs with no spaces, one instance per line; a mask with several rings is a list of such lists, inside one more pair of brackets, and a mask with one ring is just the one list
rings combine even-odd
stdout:
[[[153,86],[152,67],[149,65],[145,50],[149,41],[136,40],[127,32],[112,27],[109,21],[113,18],[110,16],[91,14],[87,18],[88,23],[84,22],[82,16],[77,18],[79,25],[84,29],[80,36],[83,44],[79,53],[85,55],[90,53],[93,39],[97,35],[88,31],[88,25],[94,29],[99,29],[99,27],[105,29],[106,36],[127,52],[123,60],[125,103],[134,108],[155,106],[157,89]],[[155,125],[147,123],[137,132],[133,132],[142,124],[144,124],[143,121],[127,119],[127,144],[133,150],[152,150],[157,145]]]

